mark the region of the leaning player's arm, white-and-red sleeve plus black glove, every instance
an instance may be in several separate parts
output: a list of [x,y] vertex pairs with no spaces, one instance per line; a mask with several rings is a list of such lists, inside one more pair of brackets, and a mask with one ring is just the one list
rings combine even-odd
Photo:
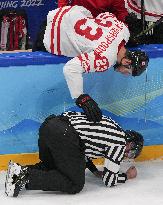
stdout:
[[104,56],[98,56],[94,51],[83,53],[68,61],[63,69],[65,79],[72,98],[83,109],[89,121],[99,122],[102,112],[98,104],[83,92],[83,73],[101,72],[108,69],[109,62]]

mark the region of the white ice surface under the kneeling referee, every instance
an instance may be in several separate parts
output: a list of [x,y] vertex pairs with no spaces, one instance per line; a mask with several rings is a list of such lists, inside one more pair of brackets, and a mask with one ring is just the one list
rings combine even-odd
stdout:
[[[123,169],[127,169],[125,163]],[[22,190],[17,198],[4,193],[5,172],[0,172],[0,205],[163,205],[163,161],[136,163],[137,178],[109,188],[86,172],[82,192],[68,195]]]

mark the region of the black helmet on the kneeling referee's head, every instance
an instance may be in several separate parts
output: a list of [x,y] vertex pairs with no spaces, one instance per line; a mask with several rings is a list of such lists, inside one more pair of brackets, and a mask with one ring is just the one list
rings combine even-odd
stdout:
[[126,130],[125,133],[126,133],[127,143],[132,142],[131,151],[134,153],[133,158],[136,158],[140,155],[143,149],[143,145],[144,145],[143,136],[134,130]]

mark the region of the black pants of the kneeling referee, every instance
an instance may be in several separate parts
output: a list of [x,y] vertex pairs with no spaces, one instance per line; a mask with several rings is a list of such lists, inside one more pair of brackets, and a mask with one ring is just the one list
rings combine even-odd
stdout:
[[85,157],[78,133],[55,117],[43,123],[39,131],[39,164],[29,166],[30,190],[80,192],[85,184]]

